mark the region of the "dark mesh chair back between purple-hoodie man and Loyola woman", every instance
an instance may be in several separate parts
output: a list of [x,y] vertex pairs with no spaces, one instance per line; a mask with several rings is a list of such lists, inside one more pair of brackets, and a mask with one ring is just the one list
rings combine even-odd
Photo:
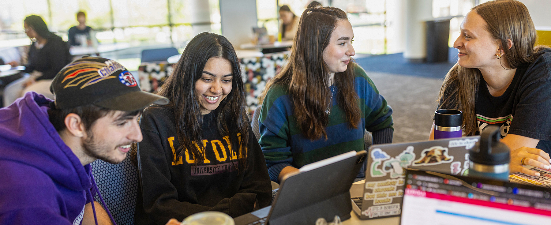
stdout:
[[[134,224],[138,169],[132,165],[130,157],[119,164],[95,160],[91,167],[101,196],[117,225]],[[95,198],[100,202],[97,195]]]

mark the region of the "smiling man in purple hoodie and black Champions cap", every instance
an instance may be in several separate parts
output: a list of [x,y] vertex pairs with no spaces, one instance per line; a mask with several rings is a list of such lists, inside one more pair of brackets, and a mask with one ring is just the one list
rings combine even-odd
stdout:
[[143,108],[168,99],[142,92],[123,66],[99,57],[69,63],[50,90],[56,101],[29,92],[0,109],[0,224],[115,223],[93,201],[90,163],[122,162],[142,141]]

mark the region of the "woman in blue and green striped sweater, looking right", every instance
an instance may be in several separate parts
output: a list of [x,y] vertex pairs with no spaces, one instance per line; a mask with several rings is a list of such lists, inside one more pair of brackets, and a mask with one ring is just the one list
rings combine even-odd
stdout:
[[[271,180],[302,165],[392,142],[392,109],[352,56],[354,33],[343,10],[309,8],[287,65],[260,97],[260,146]],[[365,169],[365,168],[364,168]],[[363,171],[358,175],[364,176]]]

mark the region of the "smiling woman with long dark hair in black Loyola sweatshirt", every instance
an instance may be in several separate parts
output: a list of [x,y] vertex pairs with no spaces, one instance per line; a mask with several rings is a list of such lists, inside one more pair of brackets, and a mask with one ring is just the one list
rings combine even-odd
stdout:
[[266,161],[245,107],[241,66],[222,35],[191,39],[141,119],[137,157],[140,185],[136,224],[162,224],[193,213],[231,217],[266,207],[272,199]]

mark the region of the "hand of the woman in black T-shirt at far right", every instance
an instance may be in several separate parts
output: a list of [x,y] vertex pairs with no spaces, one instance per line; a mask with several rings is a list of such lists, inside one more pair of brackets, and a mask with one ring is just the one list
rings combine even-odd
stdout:
[[511,163],[509,165],[511,173],[521,172],[531,176],[541,175],[534,170],[523,167],[523,158],[526,158],[524,159],[525,165],[531,165],[533,167],[543,169],[549,169],[551,167],[551,159],[549,159],[549,154],[537,148],[520,147],[511,151]]

